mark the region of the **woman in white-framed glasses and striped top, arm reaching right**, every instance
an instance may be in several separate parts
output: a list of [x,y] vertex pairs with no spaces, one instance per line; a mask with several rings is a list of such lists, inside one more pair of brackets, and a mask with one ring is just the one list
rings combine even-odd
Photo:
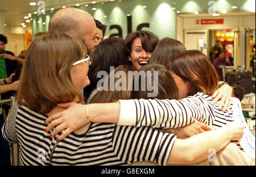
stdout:
[[[150,127],[107,123],[84,125],[62,141],[51,137],[44,123],[48,116],[63,111],[57,104],[83,102],[79,90],[89,84],[86,74],[90,62],[86,54],[85,45],[67,34],[39,37],[28,49],[17,103],[2,129],[6,140],[20,145],[22,165],[127,165],[135,161],[154,161],[160,165],[195,163],[208,157],[210,147],[218,151],[230,140],[242,137],[240,124],[230,124],[183,141],[174,134]],[[118,116],[112,113],[113,109],[118,110],[117,105],[97,106],[94,111],[90,109],[90,115],[100,115],[104,110],[105,119],[109,119],[108,115]],[[86,112],[89,115],[89,109]],[[60,124],[58,120],[55,123]],[[200,142],[200,150],[196,142]]]

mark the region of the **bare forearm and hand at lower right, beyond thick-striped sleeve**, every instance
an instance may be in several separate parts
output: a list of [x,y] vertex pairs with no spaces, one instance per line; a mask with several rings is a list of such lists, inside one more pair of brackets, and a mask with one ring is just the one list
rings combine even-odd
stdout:
[[218,130],[196,134],[184,140],[176,139],[167,163],[192,164],[203,161],[210,155],[208,150],[213,149],[217,153],[231,140],[241,139],[242,135],[243,125],[232,122]]

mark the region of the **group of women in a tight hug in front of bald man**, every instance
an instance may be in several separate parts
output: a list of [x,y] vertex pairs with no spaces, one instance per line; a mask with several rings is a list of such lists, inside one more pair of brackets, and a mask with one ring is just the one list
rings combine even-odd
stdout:
[[[19,144],[21,165],[214,165],[230,146],[236,161],[228,165],[255,165],[238,143],[243,125],[233,106],[240,102],[204,53],[143,30],[90,50],[72,32],[51,32],[55,20],[28,49],[2,128]],[[108,89],[98,89],[100,71],[109,74]],[[154,97],[143,89],[150,79],[158,82]]]

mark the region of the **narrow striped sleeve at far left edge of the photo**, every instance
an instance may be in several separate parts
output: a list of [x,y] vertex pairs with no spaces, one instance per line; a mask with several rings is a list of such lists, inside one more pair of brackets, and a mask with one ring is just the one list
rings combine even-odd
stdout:
[[11,108],[11,111],[9,112],[9,118],[5,121],[5,124],[3,124],[2,127],[3,138],[12,144],[18,143],[18,136],[15,130],[18,107],[18,104],[14,104],[14,106]]

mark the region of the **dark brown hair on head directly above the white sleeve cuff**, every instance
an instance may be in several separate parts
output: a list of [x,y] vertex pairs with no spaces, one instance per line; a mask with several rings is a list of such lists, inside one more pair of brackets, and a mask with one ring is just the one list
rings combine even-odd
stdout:
[[[144,71],[145,74],[139,75],[139,90],[136,91],[133,89],[131,91],[131,99],[179,99],[179,90],[176,86],[174,78],[172,78],[170,72],[165,66],[160,64],[147,64],[144,65],[139,72],[140,71]],[[154,71],[158,71],[157,79],[154,78]],[[147,86],[144,87],[146,88],[146,91],[142,90],[142,81],[147,81],[147,77],[151,77],[151,84],[152,81],[157,82],[156,86],[158,87],[158,93],[156,96],[154,96],[154,98],[148,95],[149,93],[152,93],[152,91],[148,91]],[[133,87],[135,85],[134,82],[135,79],[133,79]]]

